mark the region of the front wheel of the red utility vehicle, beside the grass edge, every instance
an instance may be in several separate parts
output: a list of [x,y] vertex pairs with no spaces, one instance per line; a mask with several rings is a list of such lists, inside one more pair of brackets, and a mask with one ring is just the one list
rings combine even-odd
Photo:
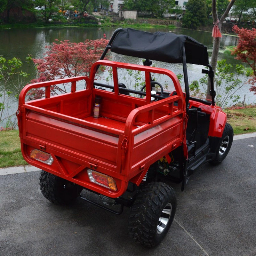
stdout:
[[233,128],[230,124],[227,123],[225,125],[222,138],[216,150],[216,157],[213,161],[210,162],[210,164],[213,164],[213,165],[220,164],[226,158],[231,148],[233,137],[234,137]]

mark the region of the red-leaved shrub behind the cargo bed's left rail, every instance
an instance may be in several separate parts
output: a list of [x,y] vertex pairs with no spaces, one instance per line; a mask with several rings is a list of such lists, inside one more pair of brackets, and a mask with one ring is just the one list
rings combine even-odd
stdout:
[[74,76],[89,76],[92,64],[100,59],[108,40],[85,40],[84,43],[70,43],[69,40],[53,42],[46,46],[43,59],[33,59],[39,78],[31,82],[43,82]]

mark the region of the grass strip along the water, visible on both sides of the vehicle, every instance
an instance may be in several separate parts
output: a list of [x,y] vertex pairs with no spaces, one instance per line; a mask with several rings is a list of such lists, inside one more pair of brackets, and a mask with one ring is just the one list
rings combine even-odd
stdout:
[[[226,109],[234,134],[256,132],[256,108]],[[26,165],[20,150],[19,131],[0,132],[0,168]]]

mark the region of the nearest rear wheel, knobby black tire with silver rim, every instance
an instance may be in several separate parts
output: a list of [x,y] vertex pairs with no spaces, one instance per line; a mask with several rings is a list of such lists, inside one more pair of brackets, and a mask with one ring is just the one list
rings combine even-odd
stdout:
[[128,224],[129,235],[138,244],[159,244],[172,225],[176,211],[174,190],[162,182],[148,183],[136,197]]

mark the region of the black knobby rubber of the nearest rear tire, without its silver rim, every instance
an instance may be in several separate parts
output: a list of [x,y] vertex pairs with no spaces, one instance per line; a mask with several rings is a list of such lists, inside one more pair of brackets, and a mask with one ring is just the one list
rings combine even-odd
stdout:
[[153,247],[158,244],[154,238],[156,232],[154,217],[158,214],[160,216],[163,204],[164,206],[166,205],[164,201],[168,199],[168,196],[174,197],[173,200],[175,201],[175,207],[173,207],[174,209],[172,208],[172,211],[174,211],[172,212],[173,217],[169,220],[171,221],[170,227],[176,211],[174,190],[165,183],[150,182],[140,191],[132,205],[128,223],[129,235],[136,243],[147,247]]

